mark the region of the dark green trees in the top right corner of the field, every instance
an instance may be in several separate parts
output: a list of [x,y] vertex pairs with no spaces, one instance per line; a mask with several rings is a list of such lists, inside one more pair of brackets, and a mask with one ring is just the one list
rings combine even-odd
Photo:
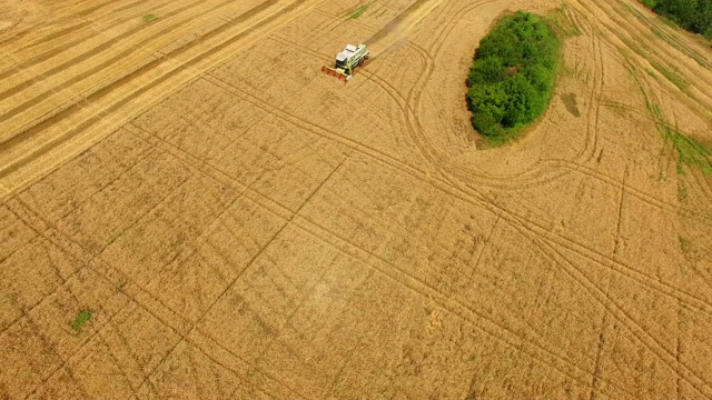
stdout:
[[682,28],[712,39],[712,0],[642,0]]

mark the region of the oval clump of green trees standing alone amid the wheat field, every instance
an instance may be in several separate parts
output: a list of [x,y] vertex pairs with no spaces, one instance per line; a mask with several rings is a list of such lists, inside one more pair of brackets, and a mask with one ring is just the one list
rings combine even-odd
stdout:
[[561,43],[537,16],[518,11],[479,42],[467,78],[472,123],[492,144],[516,137],[548,107]]

